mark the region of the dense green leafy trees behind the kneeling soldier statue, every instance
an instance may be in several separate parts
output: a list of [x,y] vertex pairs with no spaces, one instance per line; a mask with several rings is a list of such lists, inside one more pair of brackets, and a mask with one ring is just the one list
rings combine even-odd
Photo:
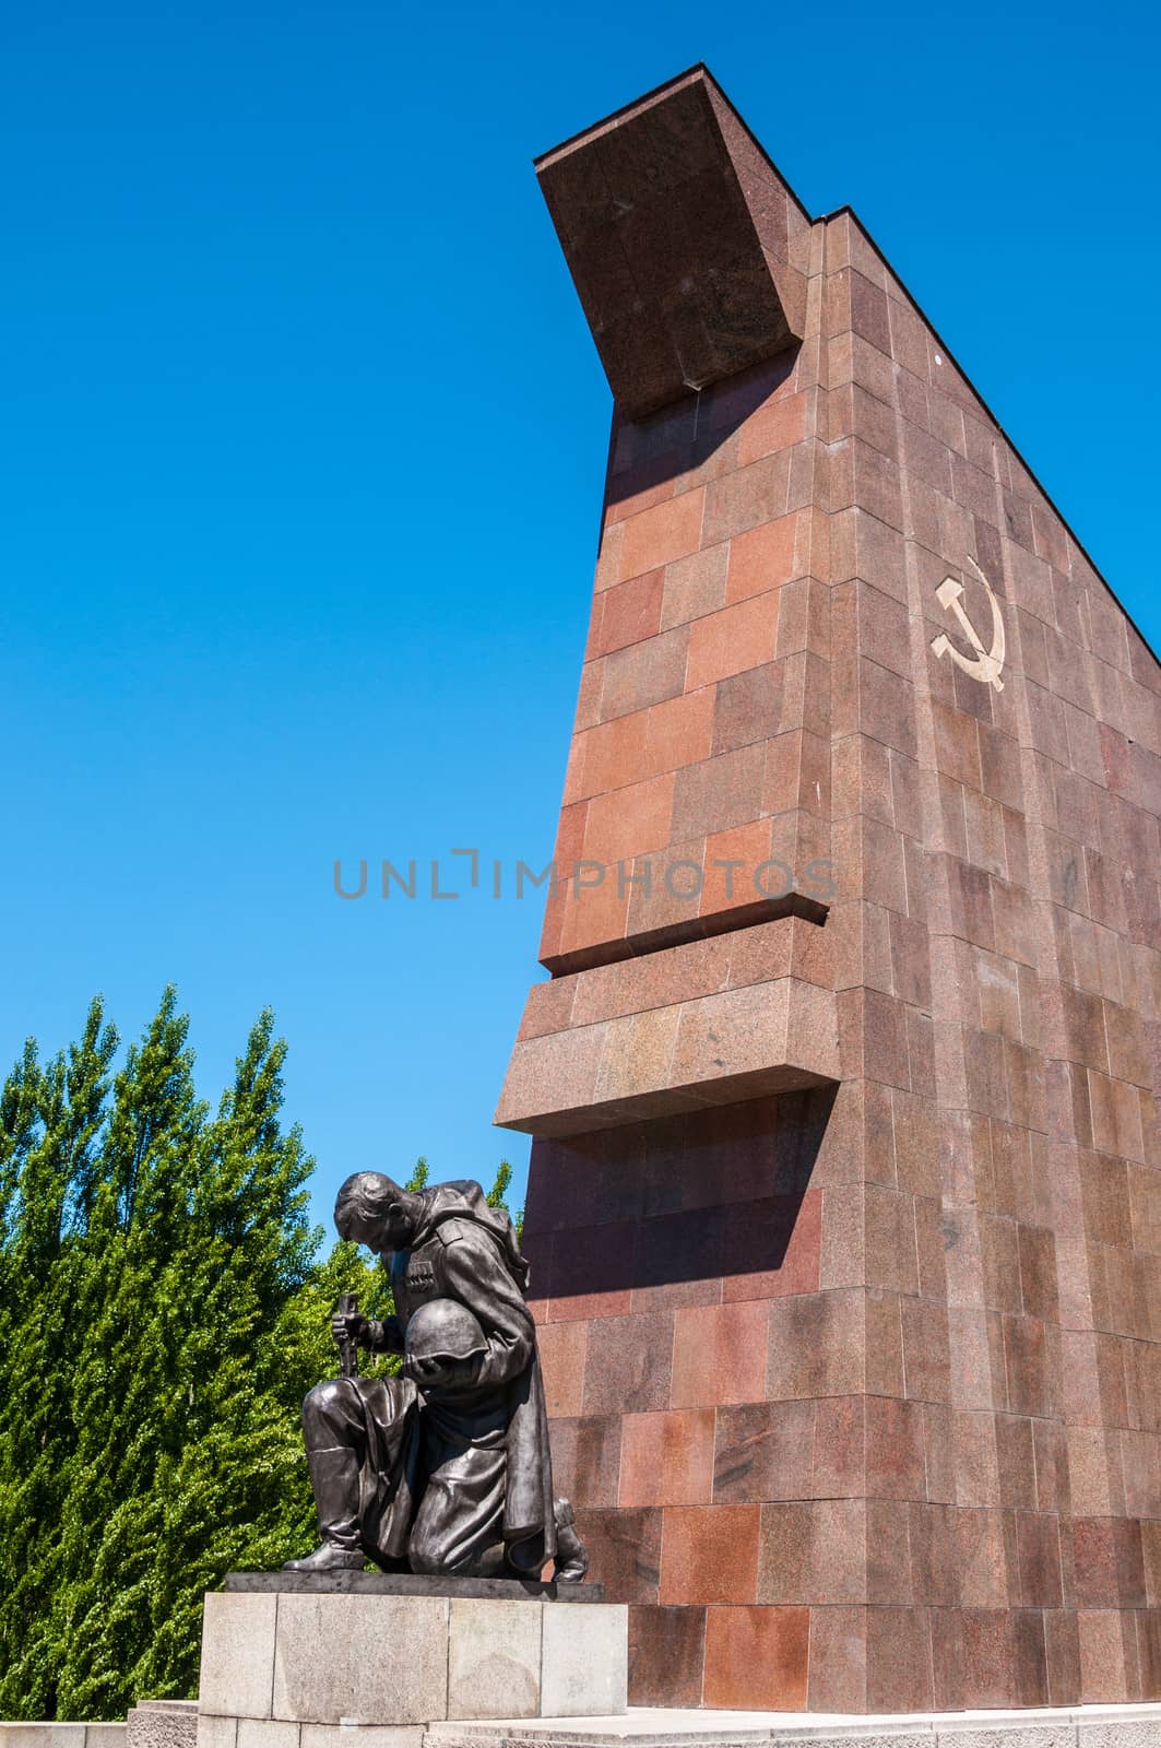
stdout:
[[[203,1591],[311,1545],[299,1409],[334,1376],[339,1294],[392,1309],[353,1245],[320,1257],[269,1012],[217,1112],[173,989],[119,1072],[117,1051],[96,1000],[79,1042],[49,1061],[28,1042],[0,1089],[7,1718],[196,1692]],[[409,1187],[427,1176],[420,1159]],[[504,1162],[493,1204],[509,1182]]]

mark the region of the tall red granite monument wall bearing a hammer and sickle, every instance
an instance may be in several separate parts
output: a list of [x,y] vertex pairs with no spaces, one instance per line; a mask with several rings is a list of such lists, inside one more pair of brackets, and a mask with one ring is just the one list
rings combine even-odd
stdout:
[[1161,669],[705,68],[537,175],[614,416],[497,1120],[629,1699],[1158,1699]]

